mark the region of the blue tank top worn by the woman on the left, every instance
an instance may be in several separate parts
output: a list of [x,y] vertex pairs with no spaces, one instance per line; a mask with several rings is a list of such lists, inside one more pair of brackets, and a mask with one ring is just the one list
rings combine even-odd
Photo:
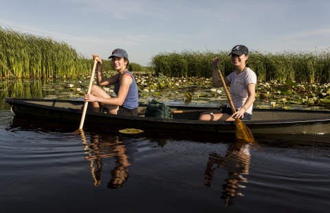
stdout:
[[[139,92],[137,90],[137,85],[133,74],[130,71],[124,71],[122,76],[125,75],[126,73],[131,75],[133,82],[132,84],[129,85],[129,92],[127,93],[124,103],[122,103],[122,106],[127,109],[134,109],[137,108],[137,106],[139,105]],[[118,91],[120,88],[120,79],[122,78],[122,76],[119,77],[118,83],[115,84],[115,88],[114,88],[115,95],[118,95]]]

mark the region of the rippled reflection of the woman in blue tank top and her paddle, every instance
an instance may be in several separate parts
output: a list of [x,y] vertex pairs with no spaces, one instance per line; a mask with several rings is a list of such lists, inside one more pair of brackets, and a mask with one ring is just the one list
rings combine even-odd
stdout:
[[[111,170],[111,179],[107,184],[108,188],[121,188],[129,177],[127,167],[133,162],[133,155],[137,151],[135,149],[134,142],[129,142],[127,138],[124,142],[120,141],[118,136],[100,136],[100,134],[91,135],[91,142],[87,143],[83,131],[81,131],[83,144],[85,145],[84,150],[87,156],[86,160],[89,160],[91,167],[91,176],[94,179],[94,186],[99,186],[101,183],[102,173],[102,159],[103,158],[115,158],[115,168]],[[94,162],[96,168],[94,168]]]

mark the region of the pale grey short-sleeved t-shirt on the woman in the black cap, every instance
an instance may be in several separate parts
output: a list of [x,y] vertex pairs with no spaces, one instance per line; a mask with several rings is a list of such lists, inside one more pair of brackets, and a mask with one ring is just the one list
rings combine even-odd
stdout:
[[[232,97],[232,103],[237,110],[241,109],[245,101],[248,99],[248,84],[256,84],[256,73],[250,68],[246,68],[243,73],[236,75],[236,71],[230,73],[227,76],[230,83],[230,97]],[[252,114],[253,104],[246,110],[249,114]]]

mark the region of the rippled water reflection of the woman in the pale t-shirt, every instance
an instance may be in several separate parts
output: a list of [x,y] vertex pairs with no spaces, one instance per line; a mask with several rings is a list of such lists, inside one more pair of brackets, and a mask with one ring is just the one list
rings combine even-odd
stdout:
[[241,182],[248,183],[248,179],[242,175],[249,174],[250,146],[250,143],[235,141],[233,145],[228,147],[224,157],[214,152],[209,155],[205,171],[205,179],[207,180],[205,186],[211,187],[213,175],[217,168],[228,171],[228,178],[222,185],[223,191],[221,193],[224,205],[234,205],[234,198],[238,195],[243,196],[239,192],[239,188],[245,188]]

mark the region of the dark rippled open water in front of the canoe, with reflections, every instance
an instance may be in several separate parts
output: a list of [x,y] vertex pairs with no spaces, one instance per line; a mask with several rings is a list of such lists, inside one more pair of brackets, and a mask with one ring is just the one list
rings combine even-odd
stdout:
[[77,128],[0,111],[1,212],[329,212],[329,135]]

